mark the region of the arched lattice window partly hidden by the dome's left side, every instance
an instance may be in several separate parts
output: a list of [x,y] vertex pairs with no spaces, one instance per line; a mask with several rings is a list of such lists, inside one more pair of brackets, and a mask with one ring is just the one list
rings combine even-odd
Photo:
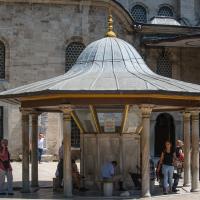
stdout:
[[85,45],[81,42],[71,42],[65,51],[65,72],[67,72],[76,62]]

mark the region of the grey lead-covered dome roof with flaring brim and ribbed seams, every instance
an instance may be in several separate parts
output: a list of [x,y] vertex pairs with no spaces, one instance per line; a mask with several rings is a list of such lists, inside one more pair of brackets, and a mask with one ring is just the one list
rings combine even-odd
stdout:
[[41,91],[199,93],[200,86],[152,72],[131,44],[116,37],[105,37],[89,44],[75,65],[64,75],[21,86],[1,94]]

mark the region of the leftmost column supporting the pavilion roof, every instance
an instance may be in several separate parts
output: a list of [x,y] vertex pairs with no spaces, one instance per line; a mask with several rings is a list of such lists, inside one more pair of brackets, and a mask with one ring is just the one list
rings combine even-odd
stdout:
[[30,192],[29,182],[29,112],[22,113],[22,192]]

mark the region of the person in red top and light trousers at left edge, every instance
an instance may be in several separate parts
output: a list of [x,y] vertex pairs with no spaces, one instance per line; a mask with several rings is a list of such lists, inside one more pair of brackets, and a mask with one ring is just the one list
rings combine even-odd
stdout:
[[0,145],[0,195],[5,195],[4,183],[7,178],[8,195],[13,195],[13,175],[8,151],[8,140],[1,140]]

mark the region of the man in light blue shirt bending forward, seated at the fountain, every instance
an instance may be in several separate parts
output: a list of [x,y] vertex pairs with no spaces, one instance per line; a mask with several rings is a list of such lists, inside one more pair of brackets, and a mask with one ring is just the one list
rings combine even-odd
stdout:
[[116,186],[116,183],[119,184],[119,190],[124,191],[123,188],[123,181],[121,175],[115,174],[115,168],[117,166],[117,161],[108,162],[103,165],[101,169],[101,177],[103,180],[111,180],[114,183],[114,187]]

